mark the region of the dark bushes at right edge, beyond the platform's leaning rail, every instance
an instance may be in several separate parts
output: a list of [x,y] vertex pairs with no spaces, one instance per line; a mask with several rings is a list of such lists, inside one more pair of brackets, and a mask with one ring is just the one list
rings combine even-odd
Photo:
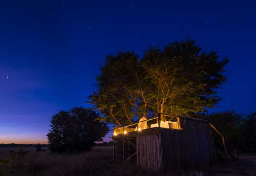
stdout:
[[207,115],[205,119],[221,132],[230,149],[256,151],[256,113],[244,116],[227,111]]

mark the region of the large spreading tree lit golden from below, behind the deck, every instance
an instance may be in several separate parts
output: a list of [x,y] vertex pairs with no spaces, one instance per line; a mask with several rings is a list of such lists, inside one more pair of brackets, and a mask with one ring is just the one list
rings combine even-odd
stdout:
[[216,52],[203,52],[193,40],[175,41],[163,49],[151,47],[142,58],[119,52],[102,65],[91,103],[105,121],[119,125],[156,112],[205,112],[221,99],[216,89],[226,81],[227,62]]

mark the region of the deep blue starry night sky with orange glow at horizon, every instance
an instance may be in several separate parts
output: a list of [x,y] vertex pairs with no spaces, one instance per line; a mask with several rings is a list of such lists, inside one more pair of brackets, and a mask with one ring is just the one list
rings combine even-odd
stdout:
[[210,112],[256,111],[255,1],[2,1],[0,143],[47,143],[51,116],[87,96],[105,56],[189,37],[229,57]]

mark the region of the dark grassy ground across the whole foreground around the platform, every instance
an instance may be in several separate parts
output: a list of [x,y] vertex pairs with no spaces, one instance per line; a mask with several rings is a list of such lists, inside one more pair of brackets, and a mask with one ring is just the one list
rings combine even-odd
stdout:
[[[18,148],[0,148],[0,158]],[[112,159],[112,147],[94,147],[92,151],[72,155],[58,155],[49,151],[35,152],[26,147],[24,157],[15,158],[12,167],[4,168],[4,175],[256,175],[255,156],[241,156],[240,161],[217,163],[209,167],[156,173],[141,169],[134,163]]]

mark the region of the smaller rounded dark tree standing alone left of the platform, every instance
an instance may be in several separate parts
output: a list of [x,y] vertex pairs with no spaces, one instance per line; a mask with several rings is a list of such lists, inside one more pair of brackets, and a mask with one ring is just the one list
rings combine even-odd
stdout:
[[106,123],[98,119],[97,113],[82,107],[60,111],[52,117],[52,128],[47,135],[50,150],[58,152],[90,150],[95,142],[102,141],[109,131]]

